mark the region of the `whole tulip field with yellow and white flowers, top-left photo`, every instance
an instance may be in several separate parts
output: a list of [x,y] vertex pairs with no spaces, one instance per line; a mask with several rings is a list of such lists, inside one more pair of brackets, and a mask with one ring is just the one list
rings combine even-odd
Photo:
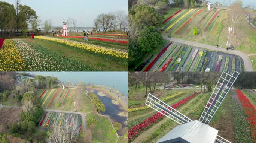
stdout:
[[[127,50],[45,36],[35,36],[35,39],[43,40],[46,45],[27,39],[0,39],[0,71],[122,71],[127,69]],[[70,50],[68,53],[72,54],[74,50],[79,50],[80,56],[76,57],[75,53],[69,56],[62,54],[63,51],[51,51],[48,43],[53,46],[52,48],[55,48],[52,44],[68,47]],[[89,62],[86,60],[88,56]]]

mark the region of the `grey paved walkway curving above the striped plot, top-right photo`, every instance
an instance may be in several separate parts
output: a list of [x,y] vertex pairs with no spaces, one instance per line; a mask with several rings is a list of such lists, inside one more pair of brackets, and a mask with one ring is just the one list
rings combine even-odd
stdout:
[[246,71],[253,71],[252,63],[251,63],[249,57],[247,57],[246,54],[244,54],[240,51],[237,51],[237,50],[228,50],[227,51],[226,48],[217,48],[215,46],[201,44],[201,43],[192,42],[192,41],[186,41],[186,40],[183,40],[183,39],[177,39],[177,38],[173,38],[173,37],[169,38],[167,36],[163,36],[163,38],[165,40],[168,40],[168,41],[174,41],[174,42],[178,42],[178,43],[182,43],[182,44],[186,44],[186,45],[192,45],[192,46],[195,46],[195,47],[200,47],[200,48],[205,48],[205,49],[209,49],[209,50],[220,51],[220,52],[224,52],[224,53],[228,53],[228,54],[238,55],[244,61],[245,70]]

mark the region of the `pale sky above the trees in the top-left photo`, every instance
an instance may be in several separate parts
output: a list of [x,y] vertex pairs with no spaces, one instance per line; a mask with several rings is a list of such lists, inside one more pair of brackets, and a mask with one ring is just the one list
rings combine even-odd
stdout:
[[[15,5],[15,0],[0,0]],[[42,21],[51,19],[53,26],[61,26],[63,17],[77,20],[76,27],[93,27],[93,20],[101,13],[123,10],[128,14],[128,0],[20,0],[30,6]]]

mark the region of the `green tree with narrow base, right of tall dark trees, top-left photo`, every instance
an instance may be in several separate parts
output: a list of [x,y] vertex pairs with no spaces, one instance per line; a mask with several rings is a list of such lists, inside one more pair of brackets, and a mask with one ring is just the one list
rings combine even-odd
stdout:
[[37,19],[37,15],[36,12],[31,9],[29,6],[22,6],[19,5],[19,14],[18,14],[18,22],[19,22],[19,26],[22,28],[22,31],[25,32],[27,31],[28,28],[28,24],[27,22],[29,22],[30,19]]

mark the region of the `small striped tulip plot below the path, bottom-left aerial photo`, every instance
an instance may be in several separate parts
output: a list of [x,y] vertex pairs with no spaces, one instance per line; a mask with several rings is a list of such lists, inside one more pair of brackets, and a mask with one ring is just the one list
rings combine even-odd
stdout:
[[51,125],[66,126],[70,125],[71,127],[76,126],[76,130],[81,132],[82,119],[79,114],[70,114],[70,113],[60,113],[60,112],[48,112],[46,111],[43,117],[39,122],[39,127],[48,129]]

